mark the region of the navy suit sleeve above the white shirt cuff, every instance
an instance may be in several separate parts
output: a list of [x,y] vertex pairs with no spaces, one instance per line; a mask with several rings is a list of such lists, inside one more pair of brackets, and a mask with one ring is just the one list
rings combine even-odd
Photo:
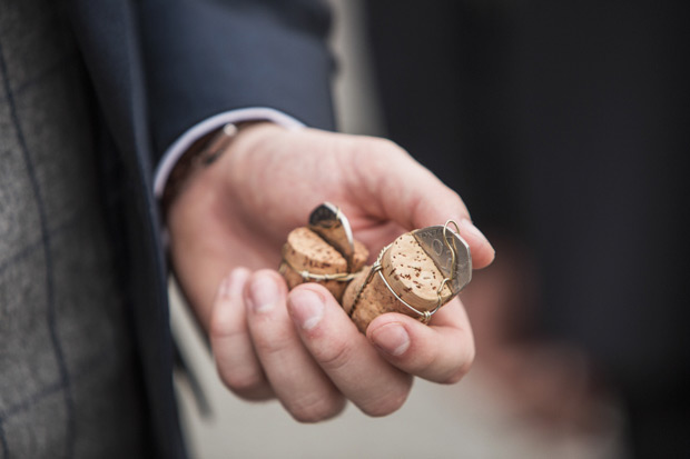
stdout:
[[144,0],[139,28],[155,160],[217,113],[269,107],[333,129],[325,44],[331,17],[313,0]]

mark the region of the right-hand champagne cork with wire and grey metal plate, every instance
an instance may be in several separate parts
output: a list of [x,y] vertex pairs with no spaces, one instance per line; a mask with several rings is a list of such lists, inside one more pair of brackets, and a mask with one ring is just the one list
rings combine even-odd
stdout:
[[343,308],[362,332],[385,312],[426,322],[470,281],[471,271],[469,247],[447,224],[407,232],[353,279]]

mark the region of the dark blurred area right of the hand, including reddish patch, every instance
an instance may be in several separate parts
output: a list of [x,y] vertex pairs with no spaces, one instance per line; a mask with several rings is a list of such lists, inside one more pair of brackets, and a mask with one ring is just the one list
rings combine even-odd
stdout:
[[365,2],[387,136],[496,247],[480,360],[546,428],[617,400],[639,458],[690,457],[687,3]]

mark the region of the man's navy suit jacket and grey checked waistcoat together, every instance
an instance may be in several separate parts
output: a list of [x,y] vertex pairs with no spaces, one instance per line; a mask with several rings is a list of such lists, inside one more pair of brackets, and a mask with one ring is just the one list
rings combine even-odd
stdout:
[[152,171],[195,123],[333,124],[310,0],[0,0],[0,458],[184,457]]

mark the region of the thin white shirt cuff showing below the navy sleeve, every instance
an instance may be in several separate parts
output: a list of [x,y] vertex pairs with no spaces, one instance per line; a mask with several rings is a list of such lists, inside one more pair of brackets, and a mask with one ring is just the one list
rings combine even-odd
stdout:
[[195,140],[227,124],[228,122],[259,120],[272,121],[287,129],[304,128],[304,124],[295,118],[285,114],[282,111],[266,107],[229,110],[207,118],[183,133],[164,153],[158,167],[156,168],[156,174],[154,176],[154,193],[156,194],[156,198],[160,199],[162,197],[162,191],[168,182],[170,171],[183,153],[195,142]]

